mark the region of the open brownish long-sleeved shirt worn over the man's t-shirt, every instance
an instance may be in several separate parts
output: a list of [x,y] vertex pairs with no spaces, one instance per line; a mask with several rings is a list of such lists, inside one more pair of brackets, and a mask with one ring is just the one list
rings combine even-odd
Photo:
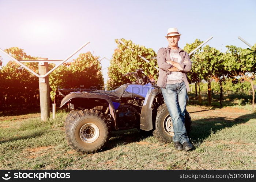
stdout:
[[[166,61],[171,61],[170,59],[170,50],[171,48],[168,46],[166,48],[160,48],[157,52],[157,64],[159,67],[159,76],[157,80],[157,86],[161,88],[166,88],[166,82],[167,82],[167,75],[170,73],[168,69],[173,67],[171,64],[166,63]],[[187,78],[187,72],[191,70],[192,63],[189,58],[189,55],[186,51],[182,50],[180,47],[178,47],[178,52],[181,56],[181,63],[180,66],[183,68],[183,76],[184,76],[184,82],[187,88],[187,91],[189,92],[189,83]]]

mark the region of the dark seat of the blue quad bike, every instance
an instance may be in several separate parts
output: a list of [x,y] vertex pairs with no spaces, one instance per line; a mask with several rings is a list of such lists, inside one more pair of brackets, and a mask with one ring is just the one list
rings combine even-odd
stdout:
[[114,102],[119,102],[120,98],[122,97],[125,89],[127,88],[127,84],[121,85],[116,90],[95,90],[95,91],[86,91],[98,94],[106,94],[110,97],[110,99]]

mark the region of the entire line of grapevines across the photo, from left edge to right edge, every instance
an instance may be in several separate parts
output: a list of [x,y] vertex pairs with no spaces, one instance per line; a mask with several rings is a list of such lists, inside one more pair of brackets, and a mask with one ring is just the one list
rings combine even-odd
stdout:
[[[121,39],[121,44],[117,39],[117,48],[114,50],[108,67],[107,89],[113,90],[122,84],[133,81],[133,78],[122,77],[127,72],[133,72],[138,68],[143,68],[145,74],[157,81],[158,70],[157,54],[151,48],[146,48],[139,44],[134,44],[131,40]],[[196,39],[193,43],[187,43],[184,50],[188,53],[202,43]],[[129,46],[133,51],[127,48]],[[236,46],[226,46],[227,51],[221,52],[214,47],[204,46],[191,55],[192,70],[188,72],[190,83],[197,85],[208,83],[208,103],[211,104],[211,82],[214,80],[219,84],[220,104],[222,105],[223,84],[227,80],[232,83],[248,82],[252,89],[252,104],[254,106],[255,91],[253,82],[256,75],[256,44],[252,48],[242,49]],[[39,59],[27,55],[24,50],[12,47],[5,50],[15,59]],[[147,63],[140,56],[148,59]],[[38,63],[25,63],[33,71],[38,72]],[[52,69],[54,64],[49,64]],[[33,105],[39,104],[38,78],[19,64],[10,61],[2,66],[0,58],[0,107],[12,105]],[[91,52],[82,53],[72,62],[64,63],[57,70],[49,75],[50,97],[52,102],[56,102],[57,87],[61,88],[90,88],[92,86],[101,89],[103,86],[102,67],[99,56],[94,56]],[[101,88],[100,88],[101,87]],[[200,89],[200,87],[199,87]],[[196,90],[197,93],[197,90]]]

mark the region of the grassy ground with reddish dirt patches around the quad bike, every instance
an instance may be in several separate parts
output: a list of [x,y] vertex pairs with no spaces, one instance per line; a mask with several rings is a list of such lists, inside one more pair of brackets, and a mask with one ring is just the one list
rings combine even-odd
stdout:
[[65,111],[48,122],[30,114],[22,115],[25,119],[2,116],[0,169],[256,169],[256,113],[242,106],[187,109],[195,146],[188,153],[133,129],[112,132],[99,153],[80,154],[65,140]]

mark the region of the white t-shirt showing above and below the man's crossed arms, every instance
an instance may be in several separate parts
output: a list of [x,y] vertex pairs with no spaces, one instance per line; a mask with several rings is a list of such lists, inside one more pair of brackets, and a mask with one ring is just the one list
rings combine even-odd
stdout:
[[[178,50],[170,51],[170,58],[172,61],[181,63],[181,56],[178,53]],[[167,75],[167,83],[166,84],[175,84],[184,82],[183,73],[179,71],[172,71],[169,75]]]

